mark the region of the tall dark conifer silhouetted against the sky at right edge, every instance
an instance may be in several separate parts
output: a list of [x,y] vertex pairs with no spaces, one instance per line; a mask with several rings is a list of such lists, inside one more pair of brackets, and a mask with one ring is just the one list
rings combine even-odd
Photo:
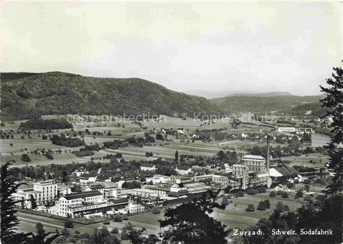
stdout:
[[320,86],[321,91],[327,94],[324,99],[320,100],[321,107],[329,108],[324,117],[332,118],[332,123],[329,125],[332,135],[325,148],[329,156],[329,168],[333,169],[335,175],[332,177],[332,183],[327,185],[326,193],[343,190],[343,70],[342,68],[333,68],[333,70],[336,72],[336,75],[332,74],[333,79],[326,79],[326,83],[331,87]]

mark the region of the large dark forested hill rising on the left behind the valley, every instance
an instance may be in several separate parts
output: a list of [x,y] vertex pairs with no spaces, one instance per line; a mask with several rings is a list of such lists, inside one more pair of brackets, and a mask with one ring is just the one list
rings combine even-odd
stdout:
[[[25,75],[23,75],[25,74]],[[139,78],[95,78],[62,72],[2,73],[1,119],[47,114],[165,114],[205,111],[216,105],[203,97],[175,92]]]

